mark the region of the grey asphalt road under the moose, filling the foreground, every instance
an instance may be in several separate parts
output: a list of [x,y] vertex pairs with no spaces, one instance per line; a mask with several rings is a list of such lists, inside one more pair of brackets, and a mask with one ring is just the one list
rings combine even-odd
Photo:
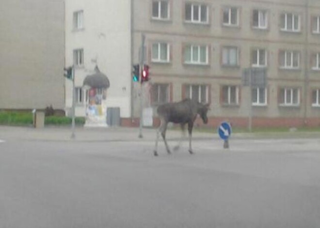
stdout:
[[319,146],[4,140],[0,228],[319,228]]

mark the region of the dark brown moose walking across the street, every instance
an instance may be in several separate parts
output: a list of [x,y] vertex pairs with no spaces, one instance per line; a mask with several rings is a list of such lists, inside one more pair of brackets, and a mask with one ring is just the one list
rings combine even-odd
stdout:
[[[179,123],[182,134],[184,135],[184,127],[185,124],[188,124],[188,133],[189,133],[189,152],[190,154],[193,154],[192,151],[192,145],[191,145],[191,140],[192,140],[192,128],[193,128],[193,123],[199,114],[202,121],[207,124],[208,123],[208,117],[207,117],[207,112],[209,110],[209,104],[202,104],[197,101],[194,101],[192,99],[184,99],[180,102],[175,102],[175,103],[166,103],[163,105],[158,106],[157,108],[157,113],[160,117],[160,127],[157,130],[157,138],[156,138],[156,145],[154,149],[154,155],[158,156],[158,139],[159,139],[159,134],[161,133],[161,136],[163,138],[166,150],[168,154],[171,154],[171,151],[169,149],[168,143],[165,139],[165,133],[167,130],[167,125],[168,122],[173,122],[173,123]],[[182,135],[182,137],[183,137]],[[181,140],[181,139],[180,139]],[[177,150],[179,148],[179,144],[174,148]]]

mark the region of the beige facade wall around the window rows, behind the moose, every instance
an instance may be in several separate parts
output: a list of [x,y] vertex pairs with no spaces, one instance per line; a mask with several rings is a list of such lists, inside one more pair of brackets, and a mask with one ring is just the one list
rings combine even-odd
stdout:
[[[307,116],[319,117],[319,108],[311,107],[311,89],[320,88],[319,71],[311,70],[310,53],[320,51],[320,35],[311,34],[310,16],[320,15],[320,1],[309,0],[309,16],[306,22],[305,1],[301,0],[169,0],[171,19],[155,21],[151,19],[150,0],[135,0],[134,7],[134,62],[138,60],[141,33],[146,36],[147,63],[150,65],[150,83],[173,83],[173,100],[181,99],[181,86],[184,83],[209,84],[211,86],[210,116],[245,117],[248,115],[248,88],[241,86],[242,69],[250,66],[251,50],[265,48],[268,51],[268,106],[254,107],[254,116],[259,117],[304,117],[304,105]],[[209,7],[209,24],[190,24],[184,21],[185,2],[205,3]],[[240,8],[240,26],[228,28],[222,25],[222,7]],[[268,11],[268,29],[252,28],[253,9]],[[141,13],[144,12],[144,13]],[[145,13],[149,12],[149,13]],[[301,15],[301,32],[280,31],[280,14],[293,12]],[[307,27],[307,29],[306,29]],[[170,44],[170,63],[151,62],[151,44],[164,41]],[[307,42],[306,42],[307,41]],[[209,46],[208,66],[189,66],[183,63],[183,45],[206,44]],[[240,66],[226,68],[221,65],[223,46],[238,46],[240,49]],[[305,67],[305,48],[308,51],[308,66]],[[279,69],[279,50],[300,51],[300,69]],[[307,75],[312,83],[308,84],[307,97],[304,96],[304,82]],[[221,85],[240,86],[240,104],[236,107],[225,107],[220,104]],[[278,105],[279,87],[298,87],[301,89],[299,107],[281,107]],[[137,87],[137,86],[136,86]],[[138,88],[138,87],[137,87]],[[135,107],[139,107],[136,99]],[[148,104],[144,104],[148,105]],[[139,115],[135,108],[135,116]]]

